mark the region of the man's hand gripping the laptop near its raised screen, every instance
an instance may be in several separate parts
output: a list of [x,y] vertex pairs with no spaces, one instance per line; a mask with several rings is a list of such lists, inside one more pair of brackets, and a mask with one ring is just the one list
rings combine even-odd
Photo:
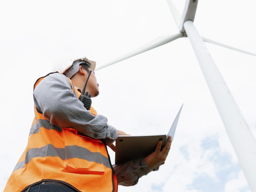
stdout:
[[157,146],[156,146],[156,150],[145,158],[146,164],[151,169],[156,168],[159,165],[164,164],[164,161],[165,161],[165,159],[168,156],[168,153],[170,151],[171,143],[172,143],[172,137],[169,136],[163,150],[160,151],[162,141],[158,141]]

